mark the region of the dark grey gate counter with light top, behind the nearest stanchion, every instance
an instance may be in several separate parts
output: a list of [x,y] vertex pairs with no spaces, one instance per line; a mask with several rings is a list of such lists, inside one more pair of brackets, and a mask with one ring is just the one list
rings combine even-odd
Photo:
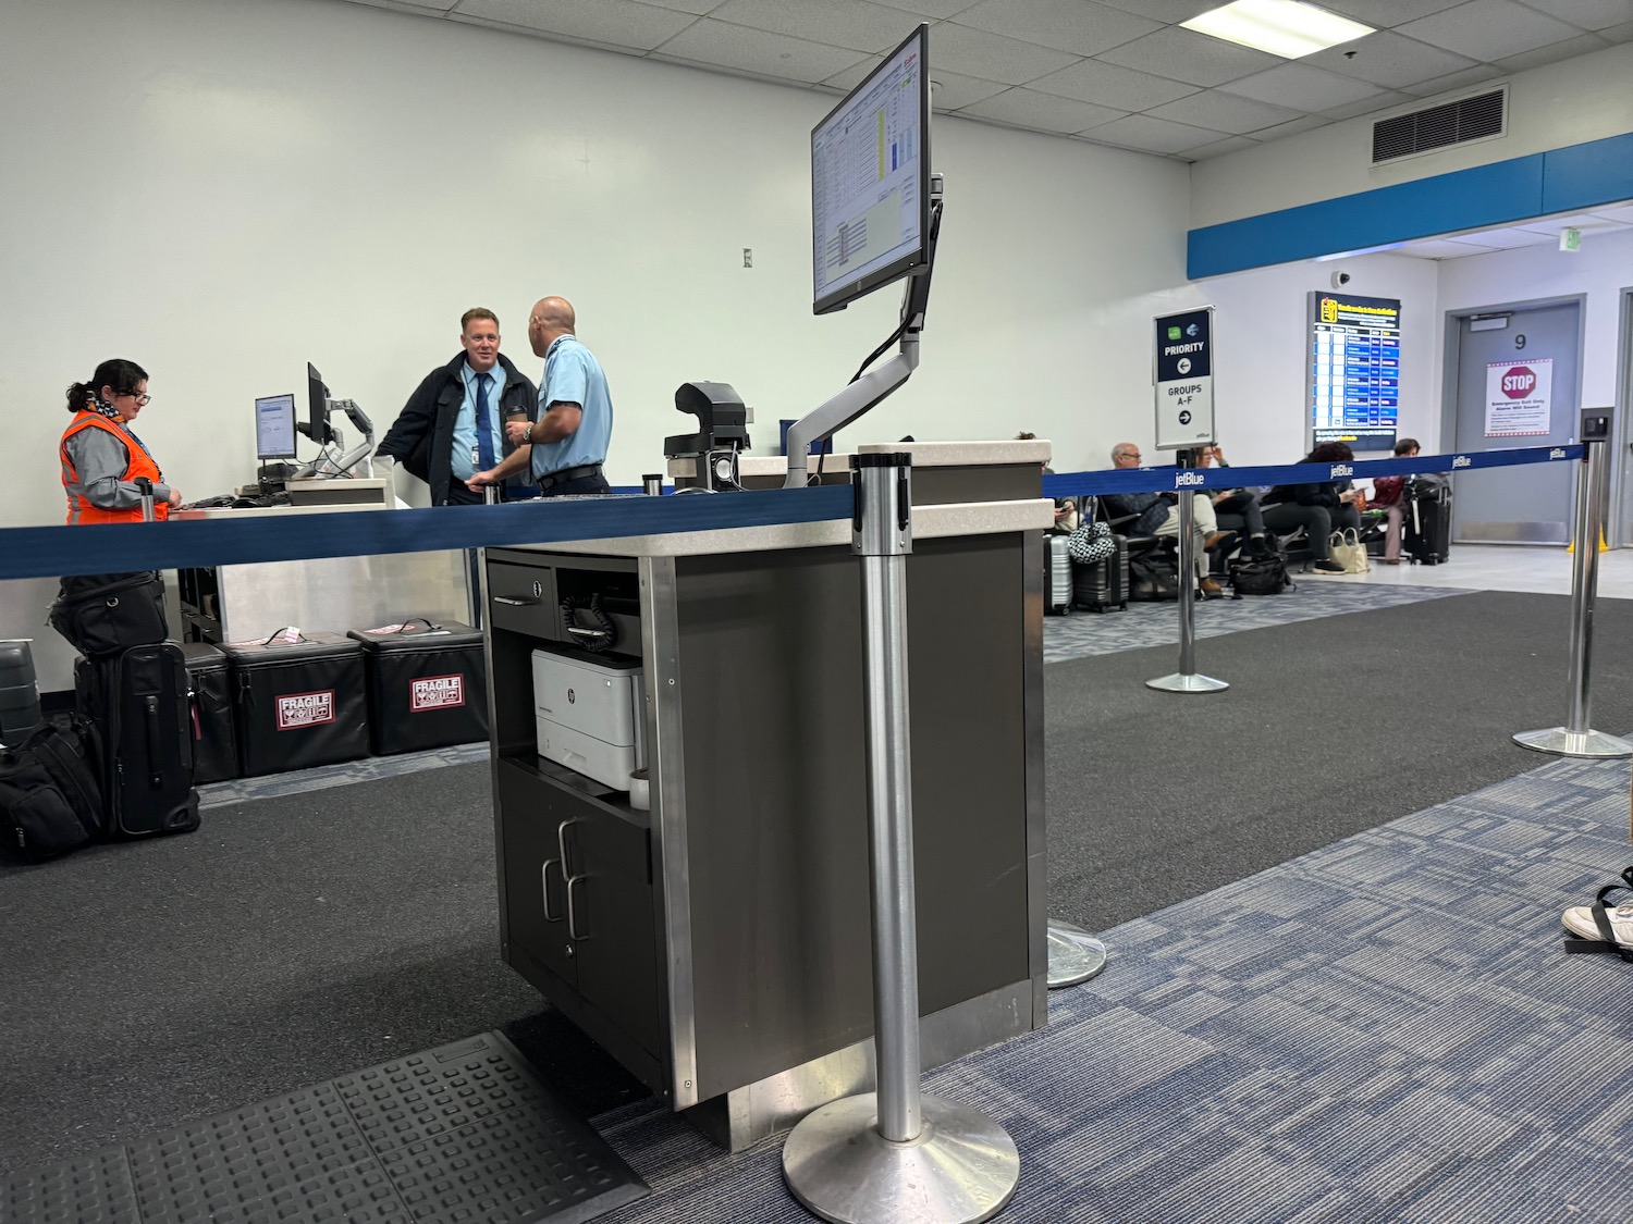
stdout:
[[[1048,444],[864,449],[914,463],[908,682],[931,1067],[1047,1022]],[[825,478],[848,468],[830,455]],[[743,478],[781,485],[781,470],[745,457]],[[483,588],[505,961],[733,1151],[869,1090],[849,521],[488,548]],[[650,809],[537,754],[532,651],[570,653],[562,602],[590,596],[616,638],[578,658],[642,666]]]

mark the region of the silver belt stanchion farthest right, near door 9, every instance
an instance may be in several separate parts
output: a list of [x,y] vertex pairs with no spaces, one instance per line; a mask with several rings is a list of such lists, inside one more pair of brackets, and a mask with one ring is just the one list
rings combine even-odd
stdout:
[[1582,463],[1576,473],[1576,552],[1571,570],[1571,712],[1564,726],[1520,731],[1514,743],[1535,752],[1560,757],[1626,757],[1633,744],[1594,731],[1589,666],[1594,654],[1594,597],[1599,591],[1599,532],[1605,509],[1605,446],[1610,436],[1609,410],[1582,413]]

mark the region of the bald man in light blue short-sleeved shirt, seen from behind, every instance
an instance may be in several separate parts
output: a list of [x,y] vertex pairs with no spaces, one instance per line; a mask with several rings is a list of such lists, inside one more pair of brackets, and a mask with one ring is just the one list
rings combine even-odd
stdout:
[[544,357],[539,419],[506,424],[506,439],[516,449],[496,467],[475,473],[470,486],[498,483],[526,467],[545,498],[612,491],[601,470],[612,441],[612,393],[601,362],[578,339],[576,323],[565,297],[534,304],[527,339]]

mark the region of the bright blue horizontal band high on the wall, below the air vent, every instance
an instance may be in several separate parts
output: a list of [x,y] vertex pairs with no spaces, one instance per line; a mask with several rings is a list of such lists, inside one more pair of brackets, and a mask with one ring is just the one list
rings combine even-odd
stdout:
[[1186,235],[1190,279],[1633,199],[1633,134],[1300,204]]

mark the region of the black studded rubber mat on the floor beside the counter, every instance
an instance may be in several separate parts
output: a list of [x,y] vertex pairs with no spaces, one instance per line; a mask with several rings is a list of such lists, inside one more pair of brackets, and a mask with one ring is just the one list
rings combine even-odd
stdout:
[[0,1224],[583,1224],[647,1193],[483,1033],[13,1177]]

